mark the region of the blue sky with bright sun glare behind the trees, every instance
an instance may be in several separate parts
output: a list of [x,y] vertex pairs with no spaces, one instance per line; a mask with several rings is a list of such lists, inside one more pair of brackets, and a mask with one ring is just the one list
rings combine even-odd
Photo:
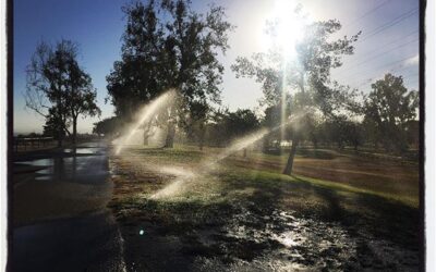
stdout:
[[[206,12],[209,3],[227,9],[235,26],[229,35],[230,49],[219,59],[225,66],[221,100],[230,110],[255,109],[262,89],[253,78],[237,78],[230,66],[237,57],[250,57],[267,49],[265,22],[275,14],[278,0],[193,0],[193,9]],[[337,18],[343,25],[338,37],[362,30],[353,55],[332,72],[340,84],[371,90],[371,83],[387,72],[403,75],[404,85],[419,85],[419,1],[417,0],[280,0],[303,5],[313,21]],[[80,45],[80,64],[97,88],[101,119],[113,115],[106,76],[121,55],[124,17],[121,7],[130,0],[14,0],[14,133],[40,133],[44,118],[26,109],[25,69],[37,44],[71,39]],[[98,118],[80,120],[78,132],[89,133]]]

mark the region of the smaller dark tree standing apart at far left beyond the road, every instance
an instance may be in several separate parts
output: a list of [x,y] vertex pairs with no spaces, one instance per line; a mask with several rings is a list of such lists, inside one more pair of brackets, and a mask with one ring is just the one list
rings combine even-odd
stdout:
[[26,69],[26,107],[46,118],[45,131],[53,134],[59,146],[65,134],[75,143],[81,114],[100,114],[90,76],[80,67],[77,55],[78,47],[70,40],[55,47],[40,42]]

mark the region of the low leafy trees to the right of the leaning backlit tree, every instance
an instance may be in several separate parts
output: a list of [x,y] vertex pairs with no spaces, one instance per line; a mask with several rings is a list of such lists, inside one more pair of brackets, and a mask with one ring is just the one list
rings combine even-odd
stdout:
[[[290,123],[284,140],[292,140],[299,135],[311,141],[315,148],[318,144],[335,144],[338,148],[352,146],[354,149],[371,145],[373,148],[383,147],[386,151],[396,153],[403,153],[411,146],[416,147],[417,91],[408,90],[403,86],[402,77],[392,74],[386,74],[383,79],[376,81],[368,95],[354,97],[348,111],[335,114],[306,112],[301,119]],[[281,113],[280,104],[267,108],[265,125],[280,125]],[[275,143],[281,140],[278,133],[269,138]]]

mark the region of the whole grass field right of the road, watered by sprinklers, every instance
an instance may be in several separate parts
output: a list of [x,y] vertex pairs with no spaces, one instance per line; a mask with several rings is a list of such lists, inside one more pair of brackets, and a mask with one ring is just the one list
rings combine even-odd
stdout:
[[417,270],[415,163],[303,150],[286,176],[286,156],[207,163],[219,151],[110,157],[110,207],[131,269]]

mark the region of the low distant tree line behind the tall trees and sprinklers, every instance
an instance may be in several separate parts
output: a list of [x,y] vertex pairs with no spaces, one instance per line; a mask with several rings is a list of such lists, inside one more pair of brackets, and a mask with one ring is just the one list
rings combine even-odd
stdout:
[[[403,87],[402,77],[386,74],[375,82],[373,90],[355,104],[352,115],[305,114],[286,126],[284,135],[274,132],[263,140],[263,148],[280,150],[282,141],[292,141],[295,133],[300,140],[314,148],[370,148],[391,153],[403,153],[419,147],[417,91]],[[192,111],[195,115],[195,112]],[[250,109],[230,111],[209,110],[202,120],[191,122],[183,132],[191,144],[225,147],[238,137],[261,127],[274,128],[281,124],[281,107],[267,107],[263,114]],[[95,124],[98,134],[114,134],[122,126],[119,119],[110,118]],[[284,138],[282,138],[284,137]]]

